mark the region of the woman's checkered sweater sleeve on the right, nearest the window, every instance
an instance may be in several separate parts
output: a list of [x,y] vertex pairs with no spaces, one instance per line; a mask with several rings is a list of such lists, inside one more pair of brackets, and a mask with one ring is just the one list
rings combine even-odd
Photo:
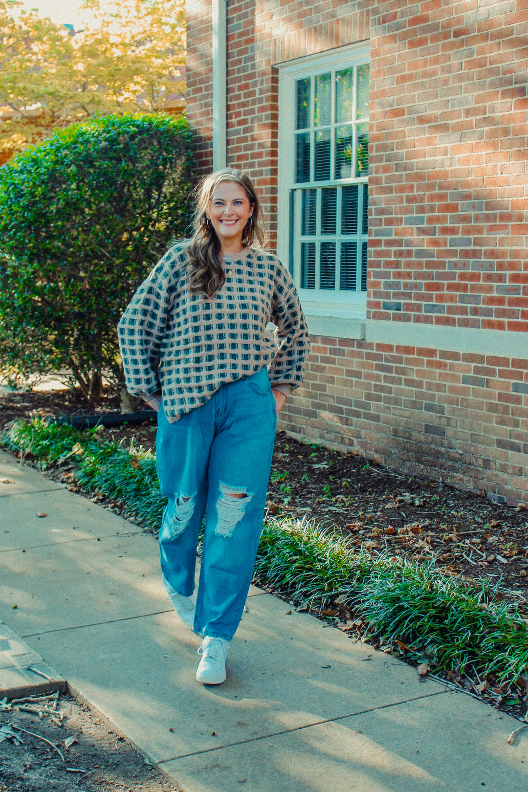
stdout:
[[272,386],[285,383],[297,388],[302,383],[304,363],[310,352],[308,328],[290,273],[278,261],[272,299],[277,352],[269,366]]

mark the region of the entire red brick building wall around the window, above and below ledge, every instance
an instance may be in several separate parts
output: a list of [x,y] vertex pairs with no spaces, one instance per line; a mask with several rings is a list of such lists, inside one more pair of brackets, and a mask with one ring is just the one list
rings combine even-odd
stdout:
[[[211,2],[189,10],[188,117],[207,171]],[[274,66],[370,39],[367,318],[387,320],[388,342],[393,322],[500,330],[507,355],[507,331],[528,331],[527,32],[528,0],[228,3],[228,163],[254,178],[271,248]],[[528,360],[313,342],[281,428],[528,501]]]

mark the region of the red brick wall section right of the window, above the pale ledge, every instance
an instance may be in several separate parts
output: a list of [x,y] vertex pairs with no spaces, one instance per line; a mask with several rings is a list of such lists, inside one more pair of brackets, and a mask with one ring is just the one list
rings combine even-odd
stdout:
[[527,33],[526,0],[375,6],[367,317],[528,330]]

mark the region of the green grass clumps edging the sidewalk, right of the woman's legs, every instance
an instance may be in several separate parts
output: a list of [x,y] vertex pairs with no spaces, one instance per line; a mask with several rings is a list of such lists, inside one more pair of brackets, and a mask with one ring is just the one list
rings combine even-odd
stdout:
[[383,642],[396,639],[431,666],[517,680],[528,671],[528,627],[493,589],[456,581],[433,564],[352,553],[344,539],[305,521],[268,520],[256,577],[313,610],[339,599]]

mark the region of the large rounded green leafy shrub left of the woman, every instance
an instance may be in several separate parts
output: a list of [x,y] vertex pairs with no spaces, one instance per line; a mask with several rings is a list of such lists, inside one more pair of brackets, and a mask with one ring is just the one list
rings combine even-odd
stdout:
[[0,367],[71,369],[90,400],[122,381],[116,325],[184,235],[192,131],[162,115],[56,131],[0,169]]

